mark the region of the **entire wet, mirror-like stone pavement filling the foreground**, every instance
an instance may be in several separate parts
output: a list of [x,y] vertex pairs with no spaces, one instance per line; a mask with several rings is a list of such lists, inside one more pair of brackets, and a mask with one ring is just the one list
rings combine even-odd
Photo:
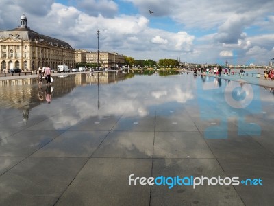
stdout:
[[15,81],[0,87],[0,205],[273,205],[273,89],[77,74],[54,77],[49,104],[45,84]]

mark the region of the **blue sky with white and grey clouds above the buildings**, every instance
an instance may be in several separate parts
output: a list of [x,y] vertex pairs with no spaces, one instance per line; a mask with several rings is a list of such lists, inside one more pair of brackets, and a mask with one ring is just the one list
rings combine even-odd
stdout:
[[[152,14],[149,10],[153,11]],[[1,0],[0,30],[32,30],[74,49],[136,60],[269,65],[274,0]]]

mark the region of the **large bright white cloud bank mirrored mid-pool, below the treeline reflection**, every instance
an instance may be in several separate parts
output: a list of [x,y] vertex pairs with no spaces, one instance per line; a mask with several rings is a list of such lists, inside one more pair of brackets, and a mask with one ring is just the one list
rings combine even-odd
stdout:
[[99,91],[97,85],[84,89],[77,87],[70,94],[69,112],[52,117],[54,122],[58,122],[54,127],[60,129],[64,126],[73,126],[79,120],[88,117],[100,119],[105,115],[144,117],[149,115],[151,106],[167,102],[185,103],[194,98],[191,87],[193,80],[188,80],[182,81],[179,76],[173,79],[151,76],[136,77],[130,80],[131,83],[123,81],[116,84],[100,84]]

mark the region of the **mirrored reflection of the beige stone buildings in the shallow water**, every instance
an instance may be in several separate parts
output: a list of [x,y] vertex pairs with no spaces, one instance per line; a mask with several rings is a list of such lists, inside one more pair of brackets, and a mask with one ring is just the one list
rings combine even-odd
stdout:
[[[124,73],[103,72],[99,73],[99,81],[97,73],[94,76],[90,73],[79,73],[69,76],[55,76],[52,86],[54,87],[52,101],[54,98],[62,97],[70,93],[75,87],[86,84],[109,84],[125,79]],[[35,106],[42,103],[39,93],[45,92],[45,82],[42,88],[38,87],[37,78],[25,78],[17,80],[1,80],[0,81],[0,108],[16,108],[23,113],[23,120],[29,118],[29,111]],[[45,102],[45,99],[44,99]]]

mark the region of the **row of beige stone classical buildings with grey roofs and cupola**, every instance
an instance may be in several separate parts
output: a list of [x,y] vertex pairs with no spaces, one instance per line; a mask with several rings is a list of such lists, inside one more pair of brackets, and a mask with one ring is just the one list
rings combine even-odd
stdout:
[[[45,36],[27,26],[27,17],[21,16],[21,25],[12,30],[0,30],[0,71],[20,68],[27,71],[38,67],[57,69],[58,65],[75,68],[76,63],[98,62],[97,52],[75,50],[69,43]],[[99,52],[101,67],[117,67],[125,64],[125,57],[114,52]]]

